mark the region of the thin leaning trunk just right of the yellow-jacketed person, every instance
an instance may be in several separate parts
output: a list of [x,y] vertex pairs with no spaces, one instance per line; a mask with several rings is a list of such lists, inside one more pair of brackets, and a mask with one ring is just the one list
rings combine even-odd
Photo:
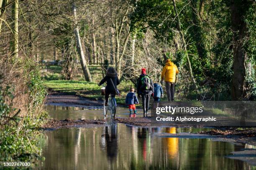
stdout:
[[179,30],[179,34],[181,36],[181,39],[182,39],[182,47],[185,51],[185,55],[187,57],[187,64],[188,64],[188,68],[189,68],[189,75],[190,75],[190,78],[192,79],[193,81],[193,85],[195,87],[195,89],[197,89],[197,83],[195,81],[195,78],[193,76],[193,72],[192,72],[192,67],[191,67],[191,63],[190,63],[190,60],[189,60],[189,56],[187,54],[187,45],[186,45],[186,41],[185,41],[185,38],[184,38],[184,34],[182,32],[182,29],[181,29],[181,25],[180,25],[180,20],[179,20],[179,15],[178,15],[178,12],[177,12],[177,8],[176,8],[176,3],[175,3],[175,0],[172,0],[173,2],[173,6],[174,6],[174,11],[175,11],[175,14],[176,14],[176,17],[177,17],[177,23],[178,23],[178,30]]

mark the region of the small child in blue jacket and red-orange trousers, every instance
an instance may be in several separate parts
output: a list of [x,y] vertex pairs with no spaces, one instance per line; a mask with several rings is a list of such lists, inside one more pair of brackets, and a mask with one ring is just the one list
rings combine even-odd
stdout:
[[138,104],[138,98],[134,92],[133,87],[130,88],[130,92],[128,92],[128,94],[126,95],[125,103],[129,107],[130,117],[132,115],[132,111],[134,112],[134,117],[136,117],[135,114],[137,113],[137,110],[135,104]]

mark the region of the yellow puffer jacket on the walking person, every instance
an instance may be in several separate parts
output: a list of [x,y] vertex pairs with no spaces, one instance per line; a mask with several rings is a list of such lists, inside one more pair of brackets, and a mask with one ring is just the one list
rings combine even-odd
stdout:
[[168,61],[165,63],[162,71],[161,80],[164,79],[166,82],[175,82],[177,73],[179,73],[177,66],[173,62]]

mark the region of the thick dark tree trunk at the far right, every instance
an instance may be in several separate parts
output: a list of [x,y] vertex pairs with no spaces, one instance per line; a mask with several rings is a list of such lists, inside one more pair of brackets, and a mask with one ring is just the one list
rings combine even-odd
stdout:
[[244,16],[248,11],[249,4],[245,0],[231,0],[231,29],[233,31],[233,80],[231,86],[232,100],[243,100],[245,95],[246,79],[246,51],[243,48],[244,41],[248,37],[248,29]]

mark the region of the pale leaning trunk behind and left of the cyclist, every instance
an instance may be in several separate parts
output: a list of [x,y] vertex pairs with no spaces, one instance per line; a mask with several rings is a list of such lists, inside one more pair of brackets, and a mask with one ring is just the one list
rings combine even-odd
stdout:
[[79,35],[79,28],[77,25],[77,8],[75,7],[74,3],[72,4],[72,8],[73,8],[72,11],[73,11],[73,15],[74,15],[74,24],[75,24],[74,34],[75,34],[76,40],[77,40],[77,52],[80,56],[80,63],[82,66],[82,70],[84,72],[84,78],[86,81],[91,82],[92,77],[91,77],[89,68],[87,66],[87,62],[84,58],[84,51],[82,49],[82,44],[81,44],[80,35]]

